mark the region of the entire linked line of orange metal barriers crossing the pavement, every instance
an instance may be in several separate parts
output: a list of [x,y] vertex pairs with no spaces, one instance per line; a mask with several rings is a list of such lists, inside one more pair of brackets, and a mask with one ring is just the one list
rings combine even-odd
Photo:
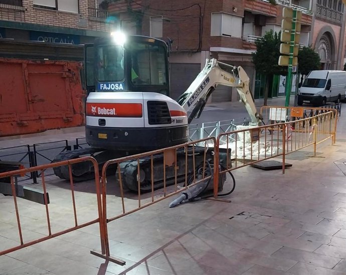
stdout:
[[[209,191],[213,192],[214,198],[217,198],[218,191],[220,191],[220,177],[226,176],[225,174],[229,171],[262,160],[282,157],[282,172],[284,173],[285,155],[310,145],[314,146],[313,151],[316,154],[316,145],[329,138],[333,144],[335,142],[336,123],[337,115],[335,111],[329,110],[313,117],[289,122],[248,128],[239,126],[237,131],[222,133],[217,139],[210,137],[174,147],[109,160],[102,168],[101,182],[98,172],[99,165],[92,157],[82,157],[1,173],[0,178],[10,177],[11,179],[20,245],[0,251],[0,255],[91,224],[99,223],[102,254],[94,251],[90,252],[123,265],[125,261],[110,256],[107,229],[110,221],[179,194],[203,180],[213,179],[213,185],[210,186]],[[223,150],[227,152],[226,159],[220,159],[220,152]],[[229,151],[230,154],[228,153]],[[91,161],[94,167],[97,218],[79,223],[76,206],[78,204],[75,199],[75,187],[72,179],[72,165],[87,161]],[[219,165],[223,166],[222,169],[219,169]],[[58,166],[68,166],[69,169],[73,207],[71,217],[74,225],[64,230],[52,232],[52,219],[49,211],[50,199],[47,194],[46,184],[47,176],[45,176],[44,171],[48,168]],[[211,171],[210,168],[215,168],[213,174],[207,173],[207,171]],[[47,218],[48,234],[34,240],[24,241],[23,226],[16,195],[15,177],[35,171],[41,171],[42,173],[41,184],[44,195],[44,210]],[[127,172],[124,174],[124,171]],[[159,188],[156,184],[157,179],[162,179],[163,193],[161,196],[154,194],[154,190]],[[132,189],[132,191],[136,191],[136,195],[133,198],[126,198],[124,192],[125,185]],[[114,196],[113,187],[115,189],[118,187],[118,190],[115,191],[118,192],[116,196]],[[111,195],[107,195],[107,189],[112,190]],[[88,216],[87,219],[91,218]]]

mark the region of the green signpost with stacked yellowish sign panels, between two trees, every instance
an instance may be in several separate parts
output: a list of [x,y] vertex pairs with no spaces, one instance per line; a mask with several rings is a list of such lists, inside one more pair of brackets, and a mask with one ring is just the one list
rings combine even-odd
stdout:
[[[345,0],[346,1],[346,0]],[[279,57],[279,66],[287,66],[287,77],[285,85],[286,103],[285,106],[289,106],[289,99],[292,90],[292,69],[293,66],[298,65],[298,51],[299,51],[299,38],[302,13],[291,8],[283,8],[282,10],[283,20],[281,22],[281,45]]]

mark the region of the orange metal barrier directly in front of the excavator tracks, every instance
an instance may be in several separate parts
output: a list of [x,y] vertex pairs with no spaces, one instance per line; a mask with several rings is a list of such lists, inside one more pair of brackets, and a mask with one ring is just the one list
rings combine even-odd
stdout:
[[[204,144],[204,146],[201,146],[201,144]],[[196,147],[196,145],[199,145]],[[171,197],[173,195],[176,195],[184,190],[186,190],[189,187],[192,187],[198,183],[200,183],[202,180],[208,180],[212,179],[213,176],[215,176],[217,169],[214,169],[214,175],[206,175],[205,171],[207,170],[207,164],[206,161],[208,161],[208,158],[212,156],[212,162],[216,163],[216,155],[213,153],[214,148],[216,145],[216,139],[215,137],[211,138],[205,138],[201,140],[197,140],[194,142],[185,143],[182,145],[177,145],[169,148],[164,148],[160,150],[155,150],[151,152],[146,152],[142,154],[137,154],[133,156],[128,157],[122,157],[114,160],[107,161],[102,169],[102,184],[103,184],[103,192],[102,192],[102,209],[103,209],[103,228],[105,229],[105,235],[108,235],[107,232],[107,223],[110,221],[113,221],[115,219],[118,219],[120,217],[123,217],[125,215],[128,215],[130,213],[133,213],[135,211],[138,211],[144,207],[147,207],[149,205],[152,205],[153,203],[159,202],[165,198]],[[214,147],[214,148],[209,148]],[[193,160],[189,161],[188,156],[192,156]],[[146,159],[147,162],[145,164],[145,168],[142,168],[144,166],[141,164],[141,159]],[[183,166],[183,163],[180,163],[182,167],[180,167],[179,162],[180,160],[185,160],[185,166]],[[156,161],[163,162],[163,167],[158,165]],[[133,198],[137,201],[137,205],[132,204],[131,207],[131,201],[125,200],[124,197],[124,179],[121,175],[122,171],[121,167],[124,167],[124,163],[129,163],[131,165],[131,162],[134,165],[137,165],[136,170],[134,171],[135,175],[133,175],[136,179],[136,185],[137,185],[137,195]],[[202,162],[202,166],[201,166]],[[192,165],[191,165],[192,164]],[[106,189],[110,188],[110,181],[107,180],[107,171],[108,176],[110,172],[111,165],[115,165],[116,168],[114,168],[113,172],[115,172],[115,179],[113,179],[114,184],[111,186],[119,186],[119,197],[121,200],[121,210],[116,209],[117,207],[112,207],[112,213],[109,214],[109,211],[107,210],[107,205],[116,204],[116,200],[118,200],[118,205],[120,205],[119,198],[114,196],[108,196],[106,195]],[[197,167],[200,166],[200,169],[203,170],[202,177],[198,178],[197,176]],[[216,166],[217,167],[217,166]],[[147,174],[149,178],[146,181],[146,192],[143,192],[141,190],[141,186],[145,182],[145,178],[143,178],[143,170],[147,170]],[[160,171],[160,169],[162,169]],[[179,171],[182,171],[181,173],[178,173]],[[163,174],[163,195],[161,197],[154,197],[154,189],[155,189],[155,174],[160,174],[158,178]],[[162,174],[161,174],[162,173]],[[113,173],[114,175],[114,173]],[[189,178],[190,176],[190,178]],[[168,179],[172,179],[170,183],[168,184]],[[190,181],[190,182],[189,182]],[[190,184],[189,184],[190,183]],[[181,184],[182,186],[178,186],[178,184]],[[211,188],[213,188],[213,184],[211,184]],[[132,186],[131,188],[133,188]],[[219,188],[219,186],[217,186]],[[132,190],[133,191],[133,190]],[[211,190],[213,192],[213,190]],[[144,197],[144,194],[149,194],[150,197]],[[119,207],[118,207],[119,208]],[[106,249],[106,258],[111,259],[114,262],[117,262],[118,264],[125,264],[123,260],[120,259],[114,259],[110,257],[110,251],[109,251],[109,244],[107,238],[105,239],[105,249]]]

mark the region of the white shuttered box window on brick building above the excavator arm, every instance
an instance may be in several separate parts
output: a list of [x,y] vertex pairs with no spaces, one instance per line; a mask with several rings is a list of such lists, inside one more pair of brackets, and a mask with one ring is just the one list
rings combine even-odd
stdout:
[[212,13],[211,36],[242,37],[242,17]]

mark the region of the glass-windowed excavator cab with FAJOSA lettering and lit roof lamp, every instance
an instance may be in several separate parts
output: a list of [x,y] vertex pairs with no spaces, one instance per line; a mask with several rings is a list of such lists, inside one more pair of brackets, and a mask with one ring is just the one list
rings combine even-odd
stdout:
[[153,92],[170,96],[164,41],[112,33],[85,45],[85,82],[90,92]]

